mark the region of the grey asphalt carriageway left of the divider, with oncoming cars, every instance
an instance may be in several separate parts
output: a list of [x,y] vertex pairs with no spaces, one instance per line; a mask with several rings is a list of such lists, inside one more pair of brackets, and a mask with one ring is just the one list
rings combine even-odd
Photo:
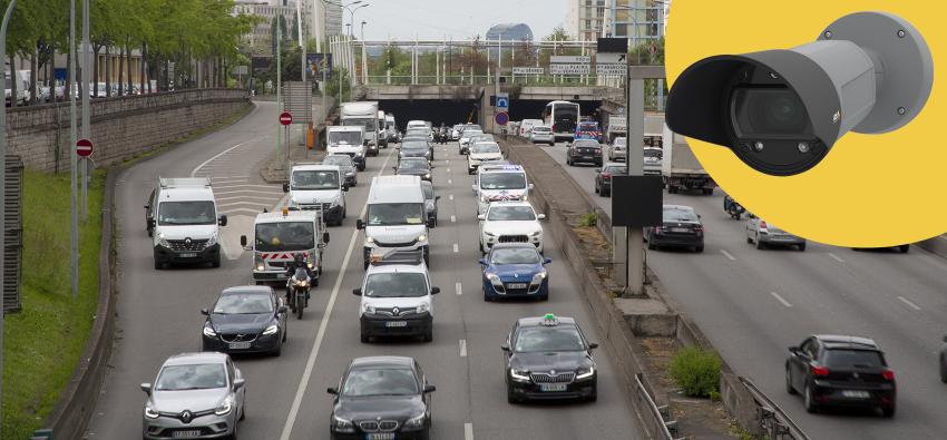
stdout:
[[[261,180],[256,168],[275,147],[276,106],[258,108],[237,124],[178,146],[125,170],[118,180],[118,339],[89,439],[138,438],[145,394],[169,355],[199,350],[207,307],[221,290],[251,282],[251,256],[238,245],[252,234],[253,215],[276,205],[279,185]],[[299,147],[297,147],[299,148]],[[432,231],[431,274],[441,293],[435,297],[435,340],[430,343],[359,342],[362,234],[354,227],[368,196],[370,177],[392,173],[394,148],[370,158],[359,186],[346,194],[349,217],[331,227],[324,278],[302,321],[291,317],[282,356],[236,356],[246,378],[244,439],[325,439],[331,399],[354,356],[398,354],[418,359],[433,394],[435,439],[635,439],[641,438],[632,409],[621,394],[612,360],[596,352],[599,368],[595,403],[519,404],[506,402],[500,342],[517,317],[547,312],[574,316],[597,341],[592,314],[575,292],[555,244],[546,243],[549,265],[548,303],[485,303],[477,261],[476,204],[466,162],[453,144],[437,147],[435,187],[440,199],[440,226]],[[143,205],[158,176],[208,176],[222,213],[226,255],[221,268],[174,267],[156,271]]]

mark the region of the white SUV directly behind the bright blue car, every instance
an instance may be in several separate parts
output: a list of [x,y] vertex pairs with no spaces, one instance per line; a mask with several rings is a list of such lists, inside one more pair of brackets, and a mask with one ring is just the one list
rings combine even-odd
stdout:
[[486,253],[496,243],[531,243],[543,252],[543,225],[545,214],[536,214],[526,202],[494,202],[480,221],[480,252]]

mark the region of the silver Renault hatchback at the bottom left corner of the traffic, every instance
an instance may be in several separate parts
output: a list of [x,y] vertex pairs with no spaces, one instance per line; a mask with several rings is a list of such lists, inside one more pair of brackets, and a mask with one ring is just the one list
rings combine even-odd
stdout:
[[141,419],[146,440],[236,438],[245,415],[243,374],[224,353],[170,356],[141,391],[148,394]]

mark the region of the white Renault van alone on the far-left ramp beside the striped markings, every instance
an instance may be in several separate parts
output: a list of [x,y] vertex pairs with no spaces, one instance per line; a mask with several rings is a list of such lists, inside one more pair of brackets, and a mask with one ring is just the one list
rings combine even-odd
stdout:
[[221,226],[211,179],[158,178],[145,205],[145,219],[155,251],[155,268],[175,263],[211,263],[221,267]]

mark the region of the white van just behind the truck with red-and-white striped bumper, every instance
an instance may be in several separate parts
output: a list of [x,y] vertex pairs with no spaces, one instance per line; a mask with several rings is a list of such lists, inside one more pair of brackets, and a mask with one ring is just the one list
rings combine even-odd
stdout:
[[335,165],[295,165],[283,192],[290,193],[290,206],[322,209],[326,224],[341,226],[345,219],[344,175]]

